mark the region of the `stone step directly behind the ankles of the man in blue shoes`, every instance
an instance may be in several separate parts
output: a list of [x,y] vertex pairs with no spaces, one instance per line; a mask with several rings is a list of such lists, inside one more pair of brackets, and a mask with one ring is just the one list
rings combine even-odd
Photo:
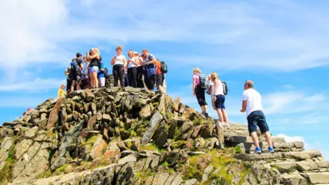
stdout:
[[[266,142],[259,143],[260,148],[262,149],[263,153],[267,153],[269,145]],[[236,145],[241,149],[242,153],[252,153],[256,149],[254,143],[240,143]],[[304,151],[303,149],[304,143],[302,142],[293,142],[293,143],[273,143],[273,148],[275,151],[280,152],[289,152],[289,151]]]

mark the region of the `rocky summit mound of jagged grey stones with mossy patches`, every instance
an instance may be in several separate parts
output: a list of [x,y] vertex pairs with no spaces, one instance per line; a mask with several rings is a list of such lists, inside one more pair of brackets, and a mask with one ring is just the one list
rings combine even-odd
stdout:
[[[79,90],[0,127],[1,184],[329,184],[304,143],[254,150],[247,126],[139,88]],[[265,138],[260,146],[267,151]]]

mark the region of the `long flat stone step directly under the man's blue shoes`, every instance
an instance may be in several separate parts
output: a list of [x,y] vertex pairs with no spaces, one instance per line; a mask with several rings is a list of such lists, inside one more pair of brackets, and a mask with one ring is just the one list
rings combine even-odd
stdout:
[[308,151],[291,151],[291,152],[276,152],[276,153],[238,153],[235,158],[239,160],[252,161],[252,160],[276,160],[276,159],[292,159],[297,161],[312,159],[320,157],[321,153],[318,150]]

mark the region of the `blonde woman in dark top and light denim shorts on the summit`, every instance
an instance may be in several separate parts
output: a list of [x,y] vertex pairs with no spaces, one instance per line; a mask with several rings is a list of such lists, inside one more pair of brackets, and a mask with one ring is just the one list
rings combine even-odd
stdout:
[[87,58],[90,60],[89,64],[89,77],[90,77],[90,86],[91,88],[98,88],[98,79],[97,73],[101,69],[101,56],[99,49],[93,47],[91,52],[87,52]]

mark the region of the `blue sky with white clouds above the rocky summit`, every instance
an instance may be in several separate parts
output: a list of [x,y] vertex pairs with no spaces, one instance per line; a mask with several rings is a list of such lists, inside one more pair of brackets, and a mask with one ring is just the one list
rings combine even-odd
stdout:
[[219,73],[234,123],[246,123],[243,82],[254,80],[273,135],[303,140],[329,159],[329,2],[200,2],[1,1],[0,123],[56,97],[75,53],[99,47],[111,68],[122,45],[166,61],[169,95],[197,110],[193,68]]

